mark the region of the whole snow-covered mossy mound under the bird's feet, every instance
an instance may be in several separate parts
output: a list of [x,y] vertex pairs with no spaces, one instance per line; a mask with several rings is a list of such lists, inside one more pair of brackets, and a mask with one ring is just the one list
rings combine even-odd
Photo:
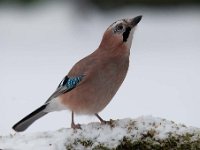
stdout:
[[111,120],[108,125],[90,123],[82,125],[82,130],[65,128],[54,132],[0,137],[0,148],[3,150],[125,149],[125,146],[129,149],[140,146],[143,149],[145,146],[148,149],[197,149],[200,148],[200,129],[146,116]]

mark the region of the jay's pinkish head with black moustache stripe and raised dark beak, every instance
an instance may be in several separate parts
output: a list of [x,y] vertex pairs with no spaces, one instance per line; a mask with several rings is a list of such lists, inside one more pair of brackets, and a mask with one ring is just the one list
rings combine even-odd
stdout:
[[104,49],[116,49],[125,46],[131,48],[133,32],[142,19],[137,16],[132,19],[121,19],[111,24],[103,35],[100,47]]

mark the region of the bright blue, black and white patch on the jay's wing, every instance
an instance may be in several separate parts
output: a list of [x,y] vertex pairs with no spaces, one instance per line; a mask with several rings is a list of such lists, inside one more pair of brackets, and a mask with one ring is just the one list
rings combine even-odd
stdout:
[[59,84],[58,88],[66,88],[67,90],[71,90],[75,88],[79,82],[83,79],[83,76],[77,77],[68,77],[66,76]]

